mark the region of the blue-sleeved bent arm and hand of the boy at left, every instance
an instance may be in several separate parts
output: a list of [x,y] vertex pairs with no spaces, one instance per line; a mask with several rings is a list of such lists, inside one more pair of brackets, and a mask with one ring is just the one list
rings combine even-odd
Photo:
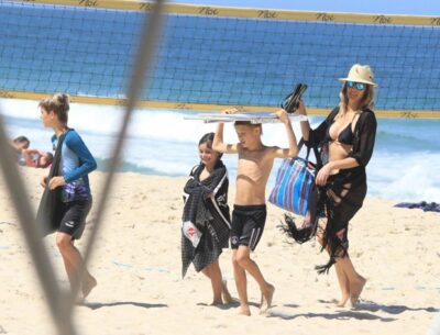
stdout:
[[64,186],[74,180],[77,180],[78,178],[90,174],[92,170],[97,168],[97,164],[94,156],[90,154],[86,144],[82,142],[81,137],[79,137],[78,134],[70,131],[66,135],[64,143],[70,150],[73,150],[78,156],[79,166],[69,174],[66,174],[64,176],[53,177],[48,183],[51,190],[59,186]]

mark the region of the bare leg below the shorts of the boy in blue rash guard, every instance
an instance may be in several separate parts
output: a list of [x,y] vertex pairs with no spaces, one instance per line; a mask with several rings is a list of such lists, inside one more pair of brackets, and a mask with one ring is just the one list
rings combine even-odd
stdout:
[[[79,250],[74,245],[72,236],[66,233],[58,232],[56,234],[56,245],[58,246],[59,253],[63,256],[70,284],[73,287],[79,284],[79,271],[84,267],[84,261]],[[84,277],[81,280],[81,291],[84,298],[90,293],[96,284],[96,279],[88,272],[87,269],[84,269]]]

